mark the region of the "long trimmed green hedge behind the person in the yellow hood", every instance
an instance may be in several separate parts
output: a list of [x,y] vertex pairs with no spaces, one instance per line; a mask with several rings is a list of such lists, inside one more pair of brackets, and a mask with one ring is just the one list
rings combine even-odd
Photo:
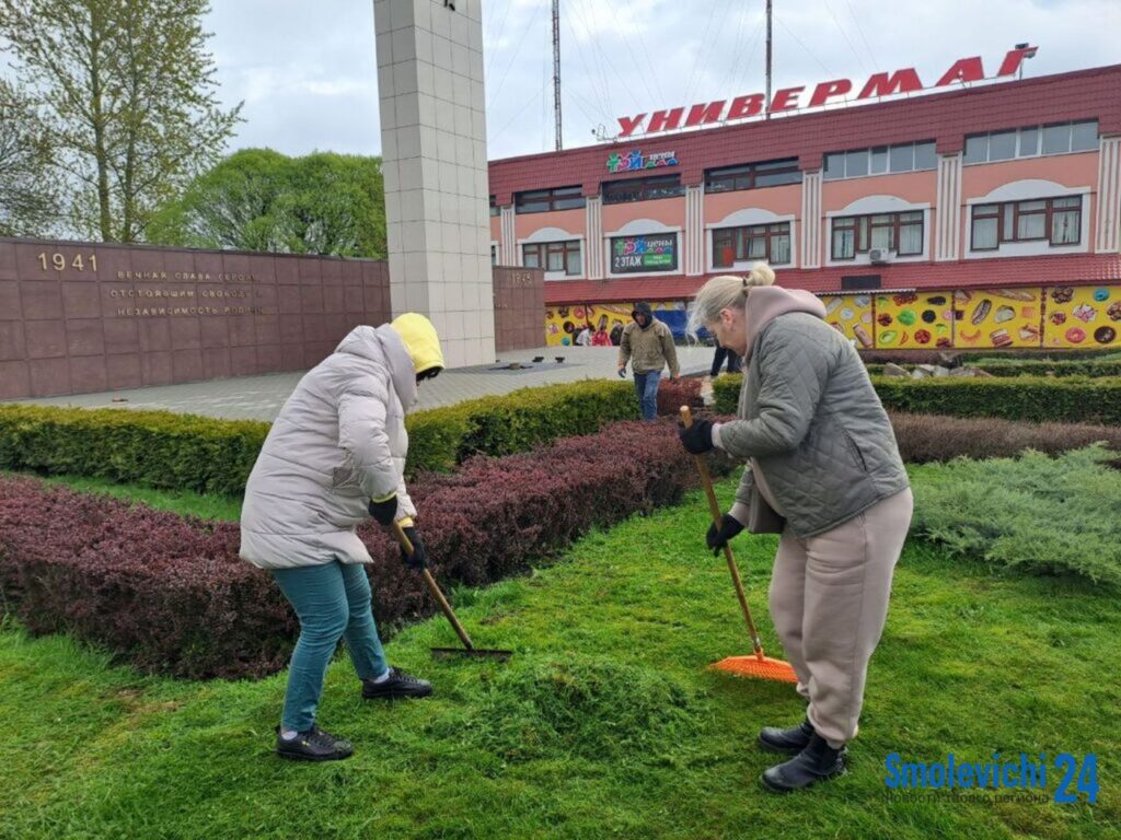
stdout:
[[[406,421],[410,475],[482,452],[510,455],[638,416],[627,382],[586,381],[418,411]],[[269,424],[165,411],[0,405],[0,468],[239,495]]]

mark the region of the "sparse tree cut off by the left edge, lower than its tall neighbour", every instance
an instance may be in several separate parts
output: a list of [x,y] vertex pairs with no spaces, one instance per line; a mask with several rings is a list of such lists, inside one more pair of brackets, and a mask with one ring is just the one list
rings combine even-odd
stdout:
[[26,94],[0,78],[0,235],[50,236],[59,222],[54,152]]

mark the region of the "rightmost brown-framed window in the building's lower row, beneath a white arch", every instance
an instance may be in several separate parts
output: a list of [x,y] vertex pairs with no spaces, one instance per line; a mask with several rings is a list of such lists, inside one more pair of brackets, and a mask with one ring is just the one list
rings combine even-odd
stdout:
[[1077,245],[1082,241],[1082,196],[973,206],[974,251],[995,251],[1004,242]]

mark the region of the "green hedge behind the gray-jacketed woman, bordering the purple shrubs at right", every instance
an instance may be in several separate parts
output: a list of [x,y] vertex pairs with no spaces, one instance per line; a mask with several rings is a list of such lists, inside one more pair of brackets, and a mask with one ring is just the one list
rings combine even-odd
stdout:
[[[721,376],[713,384],[716,412],[735,413],[742,377]],[[883,405],[895,411],[949,417],[1064,423],[1121,423],[1121,377],[1017,376],[1015,379],[908,380],[873,376]]]

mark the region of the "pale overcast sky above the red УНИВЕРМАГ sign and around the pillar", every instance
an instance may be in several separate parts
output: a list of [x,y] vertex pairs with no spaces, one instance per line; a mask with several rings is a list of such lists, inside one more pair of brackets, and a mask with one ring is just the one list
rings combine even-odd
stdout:
[[[380,153],[372,0],[212,0],[222,97],[244,101],[230,150]],[[960,57],[1028,76],[1121,63],[1121,0],[775,0],[775,87]],[[617,116],[763,90],[763,0],[560,0],[565,147]],[[549,0],[483,0],[491,159],[553,148]],[[1046,114],[1040,114],[1046,119]]]

